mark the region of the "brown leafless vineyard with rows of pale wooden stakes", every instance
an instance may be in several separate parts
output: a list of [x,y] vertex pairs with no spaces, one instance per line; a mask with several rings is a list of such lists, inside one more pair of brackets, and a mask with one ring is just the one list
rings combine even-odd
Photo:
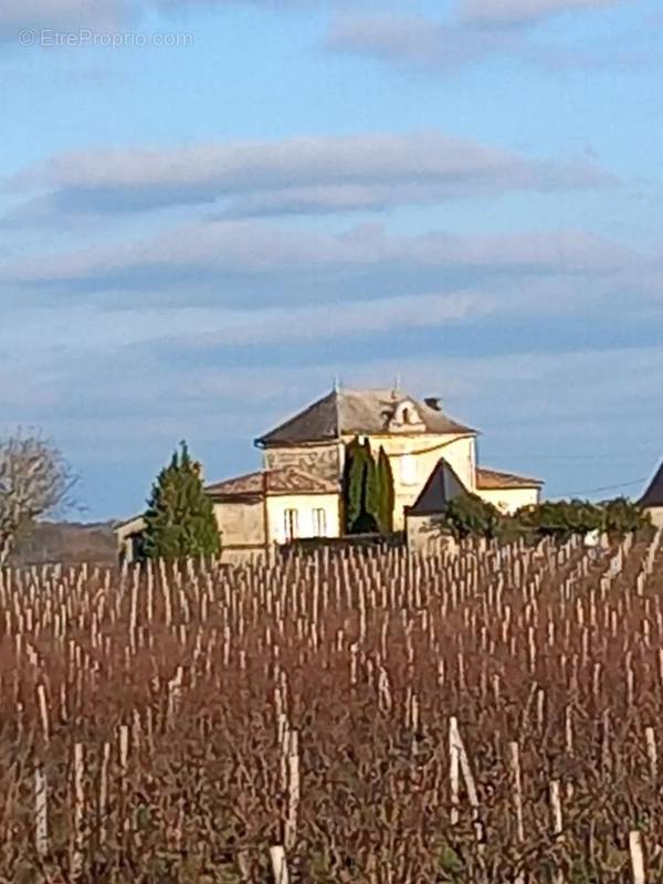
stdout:
[[663,881],[662,566],[8,569],[0,881]]

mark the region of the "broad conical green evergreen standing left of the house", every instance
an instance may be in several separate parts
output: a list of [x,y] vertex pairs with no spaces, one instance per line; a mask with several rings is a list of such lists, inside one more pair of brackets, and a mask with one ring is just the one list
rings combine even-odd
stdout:
[[159,473],[145,514],[146,558],[217,556],[220,537],[212,502],[204,493],[200,464],[186,442]]

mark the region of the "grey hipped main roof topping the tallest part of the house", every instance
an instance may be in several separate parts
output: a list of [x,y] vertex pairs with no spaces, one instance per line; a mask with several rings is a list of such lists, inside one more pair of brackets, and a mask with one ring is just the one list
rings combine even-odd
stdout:
[[[292,445],[303,442],[327,442],[344,435],[378,435],[388,432],[397,407],[411,402],[421,418],[413,432],[434,434],[473,433],[431,404],[393,390],[333,390],[298,414],[260,439],[256,445]],[[407,432],[407,428],[406,428]]]

